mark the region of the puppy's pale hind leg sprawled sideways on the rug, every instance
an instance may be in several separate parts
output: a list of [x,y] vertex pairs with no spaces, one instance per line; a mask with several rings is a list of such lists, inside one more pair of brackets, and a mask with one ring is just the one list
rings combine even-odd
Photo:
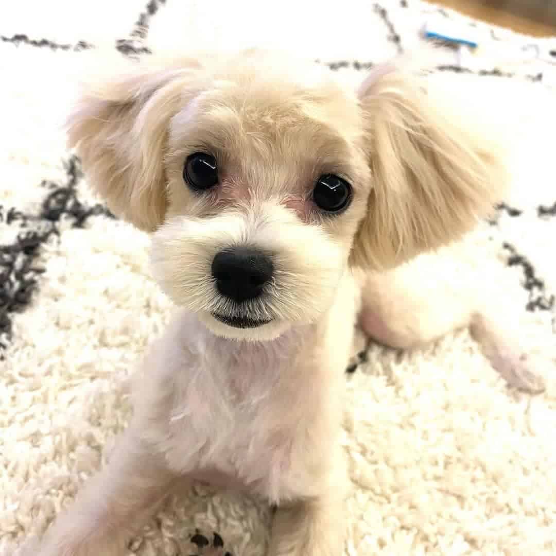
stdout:
[[[448,264],[446,264],[448,262]],[[453,330],[469,327],[493,368],[510,386],[530,393],[544,389],[538,365],[516,330],[519,311],[484,286],[465,265],[429,259],[371,275],[363,290],[359,325],[380,344],[415,349]],[[488,290],[488,294],[484,292]]]

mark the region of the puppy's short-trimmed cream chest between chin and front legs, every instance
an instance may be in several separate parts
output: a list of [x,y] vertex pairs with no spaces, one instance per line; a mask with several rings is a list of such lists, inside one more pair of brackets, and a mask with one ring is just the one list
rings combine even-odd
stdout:
[[[191,349],[191,372],[176,374],[168,415],[171,465],[219,486],[245,486],[278,501],[290,496],[307,400],[314,399],[299,339]],[[202,347],[202,349],[201,349]],[[312,395],[311,395],[312,394]]]

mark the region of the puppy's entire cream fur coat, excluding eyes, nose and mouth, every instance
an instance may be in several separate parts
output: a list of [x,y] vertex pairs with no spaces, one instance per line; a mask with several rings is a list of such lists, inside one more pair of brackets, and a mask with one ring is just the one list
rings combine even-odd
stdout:
[[[121,63],[91,80],[69,138],[111,209],[152,234],[155,277],[181,309],[136,374],[110,463],[37,552],[122,554],[176,481],[202,480],[277,506],[270,556],[337,556],[347,482],[337,393],[358,317],[399,347],[471,325],[514,385],[539,386],[467,285],[437,287],[429,306],[405,264],[488,214],[503,195],[502,158],[400,61],[359,90],[267,52]],[[219,163],[219,184],[201,194],[182,177],[195,151]],[[342,214],[312,201],[326,173],[353,187]],[[238,309],[211,262],[242,245],[271,253],[275,272]],[[271,322],[240,329],[211,316],[238,310]]]

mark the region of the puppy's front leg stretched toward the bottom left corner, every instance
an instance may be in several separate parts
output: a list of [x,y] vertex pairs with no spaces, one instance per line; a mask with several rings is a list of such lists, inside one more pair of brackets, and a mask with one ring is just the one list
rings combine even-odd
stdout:
[[48,530],[38,556],[119,556],[175,479],[163,457],[128,429],[106,468]]

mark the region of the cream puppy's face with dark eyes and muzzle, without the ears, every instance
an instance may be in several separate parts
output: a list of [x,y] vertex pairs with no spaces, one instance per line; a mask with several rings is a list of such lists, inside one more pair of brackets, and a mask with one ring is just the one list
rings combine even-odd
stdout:
[[248,62],[168,124],[153,269],[218,334],[314,321],[347,268],[370,183],[359,107],[337,86],[309,87]]

